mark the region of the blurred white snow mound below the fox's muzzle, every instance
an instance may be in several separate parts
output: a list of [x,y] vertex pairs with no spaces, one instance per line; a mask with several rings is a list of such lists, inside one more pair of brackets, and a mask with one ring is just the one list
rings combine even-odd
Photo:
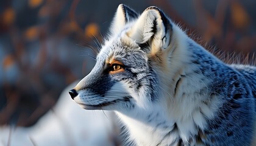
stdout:
[[113,113],[80,108],[68,95],[74,85],[33,127],[0,127],[0,145],[115,145]]

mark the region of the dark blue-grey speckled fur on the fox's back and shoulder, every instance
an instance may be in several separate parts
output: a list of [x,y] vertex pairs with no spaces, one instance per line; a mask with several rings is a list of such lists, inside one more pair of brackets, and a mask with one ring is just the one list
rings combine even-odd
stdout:
[[[197,139],[205,145],[250,145],[255,122],[256,68],[252,66],[227,65],[205,54],[201,46],[190,42],[194,64],[198,74],[212,80],[208,85],[210,97],[218,94],[224,101],[215,119],[208,121],[204,136]],[[216,97],[216,96],[213,96]]]

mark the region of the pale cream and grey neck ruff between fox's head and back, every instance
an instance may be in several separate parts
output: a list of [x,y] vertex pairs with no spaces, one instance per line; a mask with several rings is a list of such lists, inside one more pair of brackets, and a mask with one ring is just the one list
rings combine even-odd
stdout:
[[160,142],[157,139],[162,139],[162,143],[169,139],[168,142],[174,144],[195,141],[221,105],[219,95],[208,91],[208,87],[215,80],[212,69],[218,70],[224,65],[180,31],[174,31],[176,38],[171,45],[177,48],[169,57],[171,63],[166,71],[160,72],[159,101],[147,108],[135,107],[128,113],[117,112],[128,127],[131,139],[144,139],[142,143],[137,142],[140,145],[157,145]]

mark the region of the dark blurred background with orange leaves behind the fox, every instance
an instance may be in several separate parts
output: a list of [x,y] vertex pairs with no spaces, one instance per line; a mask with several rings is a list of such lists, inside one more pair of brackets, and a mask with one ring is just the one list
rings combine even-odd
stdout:
[[90,72],[121,3],[159,7],[227,63],[256,62],[255,0],[1,0],[0,125],[33,125]]

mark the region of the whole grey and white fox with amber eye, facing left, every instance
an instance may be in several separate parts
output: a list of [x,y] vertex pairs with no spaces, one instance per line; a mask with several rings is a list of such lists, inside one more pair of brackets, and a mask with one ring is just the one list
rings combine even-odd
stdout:
[[119,5],[90,74],[69,91],[113,110],[135,145],[253,145],[256,68],[225,64],[162,10]]

